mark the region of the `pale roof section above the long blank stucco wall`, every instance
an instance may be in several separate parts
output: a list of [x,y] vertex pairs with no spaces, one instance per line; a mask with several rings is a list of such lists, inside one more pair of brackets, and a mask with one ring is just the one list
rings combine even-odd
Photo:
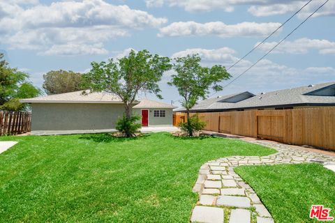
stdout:
[[122,100],[110,93],[89,93],[83,94],[83,91],[75,91],[69,93],[59,93],[56,95],[47,95],[37,98],[22,99],[20,102],[25,103],[105,103],[105,104],[121,104]]

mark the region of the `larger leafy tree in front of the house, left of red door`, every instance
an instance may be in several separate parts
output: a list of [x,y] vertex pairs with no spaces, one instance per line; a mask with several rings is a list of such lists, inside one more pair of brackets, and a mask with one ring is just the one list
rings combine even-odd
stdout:
[[[122,59],[91,63],[91,70],[84,75],[85,85],[91,92],[113,93],[124,102],[126,119],[131,118],[131,107],[138,93],[153,93],[158,98],[158,82],[163,73],[172,68],[168,57],[151,55],[147,50],[131,51]],[[128,137],[129,135],[126,134]]]

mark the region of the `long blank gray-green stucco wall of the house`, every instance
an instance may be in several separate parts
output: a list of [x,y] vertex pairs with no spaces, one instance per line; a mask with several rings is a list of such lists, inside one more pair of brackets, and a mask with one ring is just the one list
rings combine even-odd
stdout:
[[31,104],[31,130],[110,130],[124,114],[119,104]]

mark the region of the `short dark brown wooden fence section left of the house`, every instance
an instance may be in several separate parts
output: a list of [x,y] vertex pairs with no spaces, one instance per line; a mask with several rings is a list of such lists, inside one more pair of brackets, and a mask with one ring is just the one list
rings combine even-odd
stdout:
[[31,130],[30,112],[0,111],[0,135],[21,134]]

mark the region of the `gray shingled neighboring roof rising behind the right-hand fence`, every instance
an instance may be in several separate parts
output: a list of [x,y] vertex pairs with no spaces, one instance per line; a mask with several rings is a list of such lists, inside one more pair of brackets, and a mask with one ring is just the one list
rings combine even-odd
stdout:
[[198,102],[193,111],[223,111],[299,105],[335,105],[335,82],[253,95],[246,91]]

